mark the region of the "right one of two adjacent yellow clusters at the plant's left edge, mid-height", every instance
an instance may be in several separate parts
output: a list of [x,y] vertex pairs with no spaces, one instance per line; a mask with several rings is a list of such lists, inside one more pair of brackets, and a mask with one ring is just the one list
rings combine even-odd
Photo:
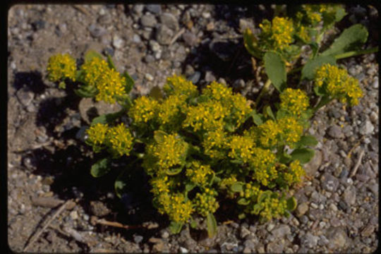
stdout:
[[124,123],[109,128],[107,138],[110,143],[111,151],[114,152],[114,154],[119,156],[130,154],[133,137]]

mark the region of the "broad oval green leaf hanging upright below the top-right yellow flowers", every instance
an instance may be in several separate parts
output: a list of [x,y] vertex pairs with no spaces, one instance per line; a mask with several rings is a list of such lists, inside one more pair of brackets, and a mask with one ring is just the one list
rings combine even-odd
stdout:
[[267,52],[263,57],[265,61],[265,72],[270,78],[272,84],[278,91],[282,92],[286,88],[286,64],[282,56],[275,52]]

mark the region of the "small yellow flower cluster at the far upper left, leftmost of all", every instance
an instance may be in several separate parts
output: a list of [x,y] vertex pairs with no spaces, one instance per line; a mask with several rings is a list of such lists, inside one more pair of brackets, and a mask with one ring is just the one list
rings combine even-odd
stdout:
[[69,54],[56,54],[49,57],[48,66],[48,78],[50,81],[56,82],[69,78],[75,81],[75,75],[77,66],[75,59]]

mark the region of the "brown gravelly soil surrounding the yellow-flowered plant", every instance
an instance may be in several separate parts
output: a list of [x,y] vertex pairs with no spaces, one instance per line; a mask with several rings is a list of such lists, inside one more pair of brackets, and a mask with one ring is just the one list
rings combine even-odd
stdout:
[[[363,23],[370,31],[368,45],[375,46],[375,8],[348,6],[347,11],[338,29]],[[111,185],[114,175],[92,179],[94,158],[81,140],[89,123],[87,111],[116,109],[68,96],[46,78],[52,54],[80,59],[87,49],[95,49],[111,54],[119,71],[131,74],[134,96],[162,87],[168,75],[183,73],[199,86],[219,80],[255,97],[263,83],[251,72],[241,30],[271,14],[270,6],[13,6],[8,13],[10,248],[23,251],[54,207],[71,199],[28,251],[373,252],[379,217],[375,54],[339,62],[361,81],[365,96],[356,107],[332,102],[314,116],[308,132],[319,144],[306,167],[310,180],[294,190],[298,207],[292,216],[260,224],[253,217],[236,220],[217,214],[219,233],[214,238],[207,238],[202,227],[170,235],[168,220],[152,209],[145,186],[119,200]],[[146,228],[126,230],[97,219]]]

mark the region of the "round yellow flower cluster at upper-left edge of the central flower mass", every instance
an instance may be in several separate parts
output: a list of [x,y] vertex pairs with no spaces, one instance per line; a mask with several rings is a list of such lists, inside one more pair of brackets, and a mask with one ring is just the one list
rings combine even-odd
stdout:
[[135,123],[147,123],[157,114],[158,102],[147,96],[138,97],[133,101],[133,106],[128,111]]

